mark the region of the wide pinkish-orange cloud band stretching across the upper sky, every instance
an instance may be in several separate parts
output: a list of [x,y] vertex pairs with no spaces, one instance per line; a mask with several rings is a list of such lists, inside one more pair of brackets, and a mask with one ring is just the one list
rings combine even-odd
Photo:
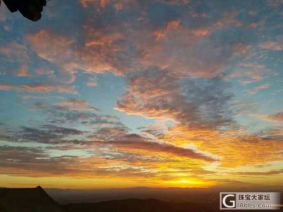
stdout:
[[[112,4],[111,1],[81,1],[84,7],[89,3]],[[122,3],[130,4],[130,1]],[[74,37],[48,30],[29,34],[27,38],[39,57],[60,66],[60,73],[69,83],[74,81],[79,70],[89,74],[112,71],[126,75],[152,66],[170,69],[179,77],[213,78],[224,71],[234,54],[245,54],[250,48],[240,42],[220,45],[209,40],[209,35],[216,30],[239,26],[237,15],[236,12],[227,13],[211,26],[196,27],[187,27],[181,19],[175,19],[168,21],[163,28],[144,22],[146,16],[143,14],[140,19],[143,27],[135,30],[130,30],[128,22],[96,27],[96,20],[89,18],[83,25],[84,45],[76,43]],[[225,54],[219,56],[221,52]]]

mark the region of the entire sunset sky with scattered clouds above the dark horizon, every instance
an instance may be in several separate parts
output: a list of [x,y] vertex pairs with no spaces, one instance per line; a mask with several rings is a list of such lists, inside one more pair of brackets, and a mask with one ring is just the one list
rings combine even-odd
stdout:
[[0,10],[0,186],[283,185],[283,1]]

